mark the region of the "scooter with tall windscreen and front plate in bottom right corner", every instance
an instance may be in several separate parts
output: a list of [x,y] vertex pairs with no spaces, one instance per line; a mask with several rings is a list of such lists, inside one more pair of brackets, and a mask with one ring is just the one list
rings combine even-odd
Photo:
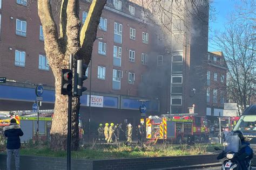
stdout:
[[[238,136],[227,136],[225,138],[225,142],[223,143],[223,146],[224,146],[224,150],[221,150],[218,147],[214,147],[214,149],[217,151],[218,150],[223,151],[222,153],[220,153],[223,155],[221,156],[219,155],[220,157],[225,158],[221,166],[221,169],[223,170],[242,169],[241,162],[239,161],[238,156],[241,154],[241,149],[246,146],[241,146],[240,138]],[[247,169],[251,169],[251,161],[246,166],[247,166]]]

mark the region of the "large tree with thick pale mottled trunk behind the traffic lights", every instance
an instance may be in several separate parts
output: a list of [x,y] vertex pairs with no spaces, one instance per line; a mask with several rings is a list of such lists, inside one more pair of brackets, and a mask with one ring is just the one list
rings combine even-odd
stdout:
[[[38,0],[38,15],[44,33],[44,48],[49,65],[55,76],[55,115],[51,127],[51,148],[66,149],[68,133],[68,97],[60,94],[61,69],[69,65],[69,56],[83,59],[88,64],[91,59],[93,42],[96,39],[97,27],[102,10],[107,0],[93,0],[81,29],[79,20],[79,0],[62,0],[59,15],[59,34],[53,19],[50,1]],[[79,97],[72,99],[72,148],[79,148],[78,112]]]

